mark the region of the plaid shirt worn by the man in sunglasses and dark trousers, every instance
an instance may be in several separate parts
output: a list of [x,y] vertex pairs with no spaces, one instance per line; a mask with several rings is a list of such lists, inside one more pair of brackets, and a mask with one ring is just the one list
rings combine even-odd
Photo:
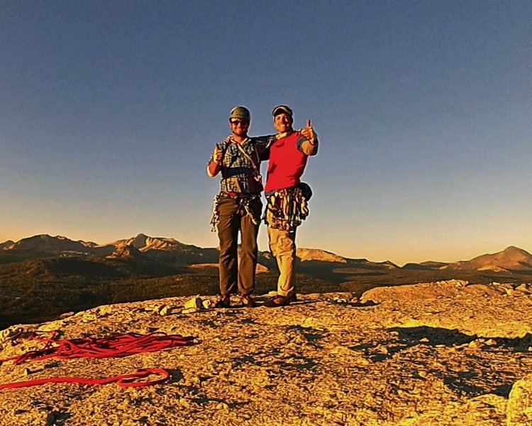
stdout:
[[[270,156],[270,145],[275,136],[261,136],[247,138],[243,143],[237,143],[231,138],[223,141],[221,161],[221,192],[239,195],[260,195],[262,179],[260,176],[260,161]],[[250,157],[244,155],[239,147]],[[216,150],[216,147],[214,148]],[[253,166],[253,163],[255,167]]]

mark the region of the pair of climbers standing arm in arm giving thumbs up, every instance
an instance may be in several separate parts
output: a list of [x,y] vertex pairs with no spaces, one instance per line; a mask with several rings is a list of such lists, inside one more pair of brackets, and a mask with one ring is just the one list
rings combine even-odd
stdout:
[[[308,155],[318,150],[316,133],[308,121],[305,129],[292,128],[292,109],[281,105],[272,114],[275,136],[248,137],[250,112],[245,107],[231,110],[231,136],[217,144],[207,165],[207,174],[221,172],[220,192],[214,197],[211,224],[220,240],[220,298],[216,307],[229,307],[232,293],[240,293],[245,307],[254,307],[257,232],[260,224],[262,181],[260,161],[270,158],[265,221],[268,224],[270,250],[279,266],[277,296],[265,305],[288,305],[295,300],[294,260],[296,228],[308,214],[309,193],[301,187]],[[303,184],[304,185],[304,184]],[[308,185],[306,188],[309,189]],[[305,193],[306,192],[306,193]],[[238,265],[238,231],[241,236]]]

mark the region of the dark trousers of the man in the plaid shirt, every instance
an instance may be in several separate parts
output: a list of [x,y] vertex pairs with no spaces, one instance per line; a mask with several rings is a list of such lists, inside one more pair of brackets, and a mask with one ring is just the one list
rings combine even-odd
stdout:
[[[249,209],[257,220],[246,212],[244,199],[240,197],[221,197],[218,204],[220,221],[218,239],[220,239],[220,294],[238,293],[249,295],[255,288],[255,268],[257,267],[257,234],[260,224],[262,202],[250,200]],[[238,231],[240,230],[240,265],[238,262]]]

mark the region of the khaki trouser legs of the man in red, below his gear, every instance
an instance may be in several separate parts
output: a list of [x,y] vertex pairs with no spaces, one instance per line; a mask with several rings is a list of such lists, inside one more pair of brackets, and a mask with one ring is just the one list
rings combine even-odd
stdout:
[[270,251],[277,261],[279,280],[277,280],[277,294],[287,296],[295,292],[296,273],[296,230],[283,231],[268,226]]

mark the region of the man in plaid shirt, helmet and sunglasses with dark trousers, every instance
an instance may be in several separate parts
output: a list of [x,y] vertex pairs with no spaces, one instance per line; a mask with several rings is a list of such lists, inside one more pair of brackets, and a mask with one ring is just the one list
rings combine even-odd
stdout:
[[[232,293],[240,293],[245,307],[254,307],[257,234],[262,212],[260,161],[267,160],[272,138],[250,138],[250,111],[235,107],[229,116],[231,136],[217,143],[207,165],[213,178],[221,172],[220,192],[214,197],[211,224],[220,240],[220,298],[215,307],[231,306]],[[240,230],[240,265],[238,231]]]

